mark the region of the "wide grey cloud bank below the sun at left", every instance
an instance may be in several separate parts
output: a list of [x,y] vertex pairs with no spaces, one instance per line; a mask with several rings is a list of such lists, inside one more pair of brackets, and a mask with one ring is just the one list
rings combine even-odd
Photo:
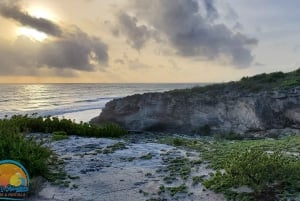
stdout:
[[107,46],[80,30],[47,42],[24,36],[13,44],[0,42],[0,75],[33,75],[41,67],[55,72],[95,71],[97,67],[99,70],[105,68],[107,62]]

